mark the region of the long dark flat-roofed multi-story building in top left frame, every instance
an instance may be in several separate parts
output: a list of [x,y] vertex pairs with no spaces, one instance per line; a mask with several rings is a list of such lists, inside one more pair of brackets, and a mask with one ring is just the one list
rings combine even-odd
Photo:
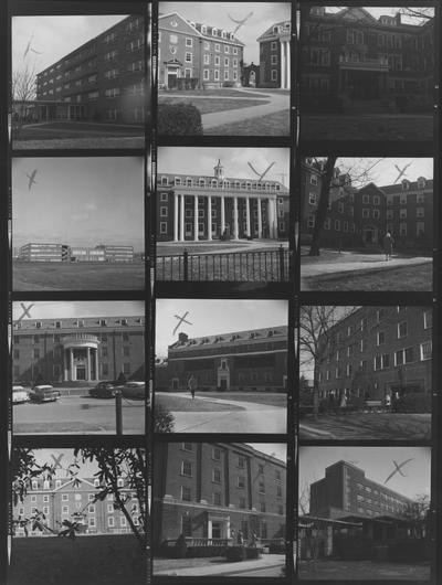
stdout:
[[36,75],[33,116],[143,123],[145,20],[130,15]]

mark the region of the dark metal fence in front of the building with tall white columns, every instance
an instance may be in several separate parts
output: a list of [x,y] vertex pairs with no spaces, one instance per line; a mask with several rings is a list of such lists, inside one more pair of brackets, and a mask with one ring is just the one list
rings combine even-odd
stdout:
[[281,283],[288,280],[288,251],[189,254],[157,257],[158,280]]

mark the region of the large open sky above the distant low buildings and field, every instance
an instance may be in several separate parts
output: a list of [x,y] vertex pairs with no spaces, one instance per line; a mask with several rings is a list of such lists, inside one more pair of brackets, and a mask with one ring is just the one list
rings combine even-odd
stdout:
[[143,174],[141,157],[14,158],[13,246],[125,244],[141,252]]

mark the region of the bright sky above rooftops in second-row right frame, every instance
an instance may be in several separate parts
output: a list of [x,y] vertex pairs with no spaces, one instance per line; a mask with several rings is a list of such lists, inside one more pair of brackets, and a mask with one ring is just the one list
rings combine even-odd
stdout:
[[[404,174],[399,178],[399,170],[403,170],[409,166]],[[362,187],[369,182],[376,183],[378,187],[386,187],[394,182],[401,183],[403,179],[415,181],[419,177],[432,179],[434,173],[434,162],[432,158],[338,158],[336,167],[339,167],[341,172],[350,171],[354,180],[354,185]],[[367,171],[367,174],[364,174]],[[360,180],[355,180],[358,178]]]

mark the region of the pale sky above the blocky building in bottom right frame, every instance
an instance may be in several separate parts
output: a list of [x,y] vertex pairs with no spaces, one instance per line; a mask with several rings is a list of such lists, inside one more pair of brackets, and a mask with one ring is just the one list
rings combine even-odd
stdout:
[[325,477],[325,468],[341,459],[364,469],[366,478],[383,485],[394,470],[393,460],[400,465],[413,458],[401,469],[406,477],[396,474],[386,487],[406,496],[415,498],[430,494],[431,450],[429,447],[301,447],[299,448],[299,491],[306,485]]

